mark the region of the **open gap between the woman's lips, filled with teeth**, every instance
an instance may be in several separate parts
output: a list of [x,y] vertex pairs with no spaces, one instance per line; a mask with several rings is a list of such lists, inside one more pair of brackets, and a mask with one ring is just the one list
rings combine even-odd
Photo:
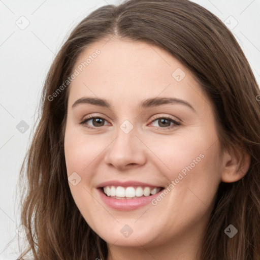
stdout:
[[150,197],[161,190],[163,187],[149,187],[149,186],[114,186],[108,185],[104,187],[100,187],[100,190],[105,196],[117,200],[133,200],[139,199],[141,197]]

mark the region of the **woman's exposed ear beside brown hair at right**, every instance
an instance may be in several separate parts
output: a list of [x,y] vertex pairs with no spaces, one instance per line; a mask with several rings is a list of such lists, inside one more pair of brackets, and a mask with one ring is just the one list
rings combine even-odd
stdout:
[[223,170],[221,174],[222,182],[236,182],[243,178],[249,167],[251,157],[242,149],[233,149],[230,152],[224,152]]

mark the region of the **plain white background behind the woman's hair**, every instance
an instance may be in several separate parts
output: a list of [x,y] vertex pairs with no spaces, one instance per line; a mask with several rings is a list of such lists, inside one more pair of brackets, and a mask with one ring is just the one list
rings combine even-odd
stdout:
[[[260,0],[201,0],[198,3],[231,29],[260,83]],[[37,106],[50,64],[72,28],[90,12],[115,0],[0,0],[0,260],[16,259],[16,229],[20,225],[16,184],[32,137]],[[25,18],[20,18],[24,16]],[[234,18],[229,18],[235,25]],[[21,19],[23,19],[21,21]],[[29,25],[20,29],[16,23]],[[228,20],[228,21],[229,21]],[[20,25],[22,26],[22,25]],[[20,133],[24,120],[29,128]],[[11,242],[10,244],[8,244]]]

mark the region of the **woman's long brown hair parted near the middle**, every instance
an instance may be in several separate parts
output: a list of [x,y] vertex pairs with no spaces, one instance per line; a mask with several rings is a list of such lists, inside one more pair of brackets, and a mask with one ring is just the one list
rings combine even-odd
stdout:
[[[64,125],[68,87],[77,57],[91,43],[119,38],[169,51],[196,78],[212,102],[222,149],[251,156],[247,174],[219,184],[202,245],[202,260],[260,259],[260,91],[231,31],[205,8],[187,0],[130,0],[103,6],[84,18],[57,53],[48,72],[39,122],[20,173],[21,224],[34,259],[106,259],[107,243],[78,210],[68,184]],[[48,98],[49,97],[49,98]],[[224,230],[233,224],[238,233]]]

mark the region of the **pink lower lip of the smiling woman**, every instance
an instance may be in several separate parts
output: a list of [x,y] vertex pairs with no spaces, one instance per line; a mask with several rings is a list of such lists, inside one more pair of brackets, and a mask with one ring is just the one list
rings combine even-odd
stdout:
[[162,189],[161,191],[159,191],[158,193],[151,195],[151,196],[147,196],[147,197],[140,197],[138,199],[114,199],[111,197],[107,197],[106,194],[104,194],[102,192],[101,188],[98,188],[101,199],[110,207],[116,210],[122,210],[122,211],[128,211],[128,210],[135,210],[138,208],[141,208],[149,203],[151,203],[151,201],[156,198],[157,196],[159,196],[159,194],[161,192],[164,191],[164,189]]

